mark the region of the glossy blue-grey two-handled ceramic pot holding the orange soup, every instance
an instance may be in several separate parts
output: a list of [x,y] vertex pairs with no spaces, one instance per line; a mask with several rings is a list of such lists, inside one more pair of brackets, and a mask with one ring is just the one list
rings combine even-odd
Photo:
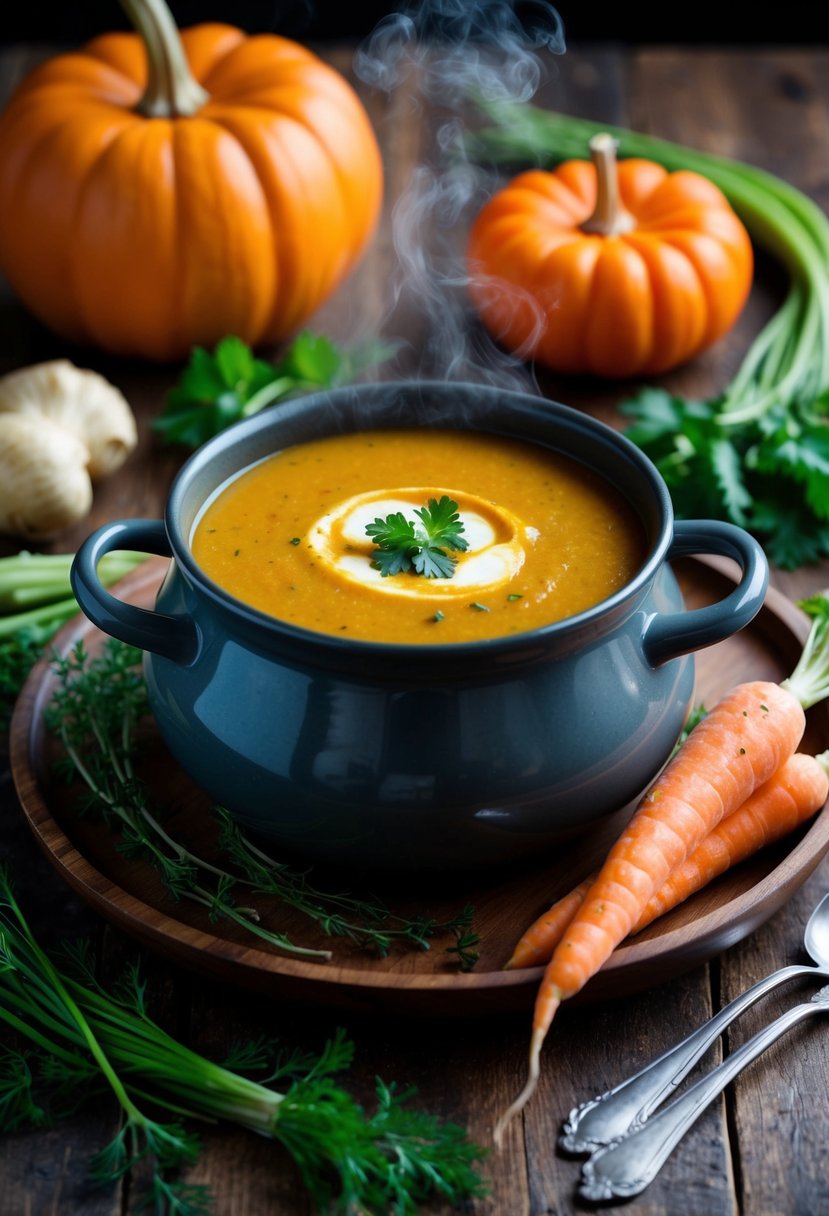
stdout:
[[[412,426],[483,429],[588,466],[635,508],[641,569],[557,624],[425,646],[287,624],[199,569],[194,523],[239,471],[321,435]],[[115,548],[171,557],[154,610],[103,589],[97,563]],[[739,563],[721,602],[684,607],[669,562],[690,553]],[[73,568],[90,620],[146,652],[173,755],[243,828],[311,860],[434,871],[554,854],[632,807],[682,730],[692,652],[745,626],[767,582],[762,550],[741,529],[675,522],[655,467],[611,428],[531,395],[423,382],[314,394],[233,426],[181,468],[164,520],[98,529]]]

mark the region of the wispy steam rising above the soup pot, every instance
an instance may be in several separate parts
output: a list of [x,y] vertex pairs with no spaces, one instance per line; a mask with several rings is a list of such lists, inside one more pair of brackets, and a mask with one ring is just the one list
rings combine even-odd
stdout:
[[417,314],[407,330],[419,330],[414,371],[424,378],[531,387],[528,368],[496,347],[468,300],[467,233],[497,182],[464,158],[462,135],[470,96],[529,101],[545,79],[542,54],[563,51],[562,22],[551,5],[509,0],[404,4],[357,50],[360,79],[389,94],[393,105],[425,101],[439,116],[432,146],[391,216],[397,269],[390,326],[397,310]]

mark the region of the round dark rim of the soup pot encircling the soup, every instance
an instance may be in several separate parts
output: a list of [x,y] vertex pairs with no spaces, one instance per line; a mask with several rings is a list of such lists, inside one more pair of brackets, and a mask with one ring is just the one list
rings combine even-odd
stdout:
[[[192,479],[219,454],[232,450],[237,445],[244,444],[247,440],[255,438],[261,432],[270,430],[272,427],[278,428],[280,423],[284,426],[298,416],[301,417],[305,413],[314,413],[323,407],[335,409],[342,402],[353,400],[355,394],[362,395],[363,398],[374,398],[382,396],[384,393],[411,393],[413,395],[427,395],[434,399],[435,396],[444,396],[447,393],[452,393],[452,390],[462,389],[473,389],[476,398],[485,399],[487,404],[492,406],[497,404],[506,404],[509,412],[515,418],[519,418],[521,413],[528,412],[540,420],[546,416],[546,418],[552,421],[558,428],[562,429],[563,433],[569,432],[571,434],[587,434],[588,439],[594,440],[597,444],[604,444],[605,447],[614,449],[619,454],[619,458],[622,463],[627,461],[630,465],[635,466],[639,478],[644,484],[647,484],[652,492],[653,505],[658,510],[658,514],[661,519],[661,527],[659,536],[655,542],[652,544],[644,562],[624,587],[620,587],[613,595],[600,599],[597,604],[593,604],[583,612],[576,613],[573,617],[565,617],[562,620],[551,621],[547,625],[540,625],[535,629],[524,630],[520,634],[507,634],[501,637],[486,637],[469,642],[384,642],[371,641],[367,638],[342,637],[335,634],[325,634],[284,621],[278,617],[272,617],[270,613],[263,612],[236,598],[218,582],[210,579],[210,576],[205,574],[196,562],[192,554],[190,537],[185,535],[181,524],[182,500]],[[410,418],[402,421],[401,424],[406,428],[411,427],[412,429],[417,429],[418,426],[423,426],[422,423],[418,423],[417,420]],[[372,423],[370,421],[370,423],[362,428],[359,424],[349,426],[343,427],[342,432],[345,433],[360,429],[368,430],[374,428],[379,429],[382,426],[391,427],[394,423],[387,421],[380,424],[376,422]],[[483,426],[474,424],[474,420],[469,418],[463,420],[463,422],[458,422],[457,418],[450,418],[444,427],[441,427],[440,420],[430,420],[427,426],[430,429],[453,430],[469,427],[469,429],[489,434],[509,434],[511,438],[519,440],[523,439],[525,443],[536,443],[540,446],[545,446],[540,438],[521,434],[519,430],[512,432],[506,428],[487,426],[486,420]],[[328,429],[325,432],[325,435],[327,437],[335,433],[338,433],[335,429]],[[323,435],[317,435],[316,438],[323,438]],[[551,435],[551,440],[553,438],[554,435]],[[293,444],[287,443],[282,447],[275,446],[272,454],[275,455],[277,451],[289,446],[293,446]],[[563,455],[569,455],[573,460],[577,460],[580,463],[591,467],[588,461],[569,452],[566,447],[554,447],[552,441],[547,444],[547,446],[553,447],[553,450],[562,451]],[[266,456],[241,461],[233,472],[222,477],[214,484],[210,492],[213,494],[220,489],[220,486],[226,485],[230,480],[232,480],[232,478],[238,477],[246,468],[252,467],[260,458],[266,458]],[[597,469],[593,471],[598,472],[598,475],[603,477],[611,485],[614,485],[614,482],[605,472]],[[614,485],[614,488],[619,492],[625,492],[619,485]],[[202,499],[202,505],[204,503],[205,497]],[[628,496],[626,495],[626,497]],[[628,501],[631,501],[630,497]],[[631,506],[635,511],[637,511],[637,514],[644,527],[645,519],[644,513],[639,510],[641,505],[631,501]],[[515,389],[498,388],[489,384],[475,384],[462,381],[374,381],[370,383],[326,389],[318,393],[309,393],[277,406],[266,407],[261,412],[253,415],[250,418],[244,418],[241,422],[233,423],[231,427],[227,427],[218,435],[207,440],[207,443],[198,447],[187,458],[175,475],[168,496],[164,523],[170,548],[173,551],[173,558],[179,568],[186,574],[187,580],[197,587],[199,593],[209,599],[215,607],[220,608],[222,613],[239,619],[247,627],[253,627],[256,634],[261,635],[261,640],[265,643],[270,642],[270,644],[272,644],[275,640],[282,640],[283,642],[301,644],[306,649],[311,648],[334,658],[349,657],[354,659],[355,657],[365,655],[366,659],[368,659],[371,657],[383,655],[388,659],[389,657],[397,655],[406,660],[418,659],[428,662],[440,658],[446,660],[464,655],[508,655],[515,652],[526,652],[528,647],[532,646],[543,646],[545,648],[559,643],[570,646],[573,636],[582,631],[585,631],[590,637],[600,636],[610,627],[615,626],[619,615],[624,612],[626,606],[635,606],[637,598],[644,592],[645,587],[650,584],[659,568],[662,565],[672,540],[673,506],[667,485],[653,461],[621,432],[615,430],[608,423],[594,418],[592,415],[585,413],[582,410],[577,410],[575,406],[564,405],[559,401],[551,401],[547,398],[535,396],[531,393],[523,393]],[[604,627],[602,627],[603,624]]]

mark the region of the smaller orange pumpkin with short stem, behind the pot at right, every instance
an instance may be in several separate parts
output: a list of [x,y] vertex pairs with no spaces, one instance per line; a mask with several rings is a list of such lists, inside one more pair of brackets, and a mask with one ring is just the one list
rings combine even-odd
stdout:
[[751,286],[745,227],[706,178],[650,161],[593,161],[514,178],[470,233],[470,293],[490,333],[557,372],[628,377],[698,355]]

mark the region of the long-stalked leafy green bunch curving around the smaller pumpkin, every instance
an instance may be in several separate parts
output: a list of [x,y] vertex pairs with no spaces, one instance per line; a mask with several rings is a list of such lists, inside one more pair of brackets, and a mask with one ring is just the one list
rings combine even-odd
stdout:
[[491,125],[466,153],[491,164],[583,158],[607,131],[622,156],[690,169],[717,185],[752,240],[789,276],[784,302],[722,394],[684,400],[645,388],[622,405],[628,437],[656,463],[677,514],[749,528],[780,568],[829,556],[829,219],[762,169],[526,103],[479,102]]

